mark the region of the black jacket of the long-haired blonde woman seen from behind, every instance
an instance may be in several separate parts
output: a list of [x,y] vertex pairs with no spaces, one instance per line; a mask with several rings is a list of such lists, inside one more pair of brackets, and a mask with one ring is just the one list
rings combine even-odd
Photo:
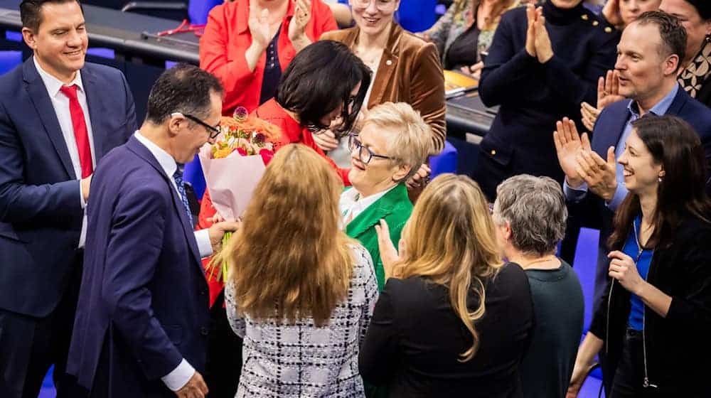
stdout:
[[[449,289],[419,276],[388,279],[360,348],[363,380],[389,387],[390,398],[523,397],[519,366],[533,333],[528,277],[507,264],[485,285],[479,350],[459,362],[472,340]],[[479,299],[470,294],[467,306]]]

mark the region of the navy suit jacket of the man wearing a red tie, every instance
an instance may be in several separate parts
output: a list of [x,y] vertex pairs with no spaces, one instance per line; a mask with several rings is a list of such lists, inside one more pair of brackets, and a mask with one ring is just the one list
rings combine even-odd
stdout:
[[[122,72],[81,70],[97,161],[136,129]],[[42,317],[79,262],[80,188],[47,89],[32,58],[0,77],[0,308]]]

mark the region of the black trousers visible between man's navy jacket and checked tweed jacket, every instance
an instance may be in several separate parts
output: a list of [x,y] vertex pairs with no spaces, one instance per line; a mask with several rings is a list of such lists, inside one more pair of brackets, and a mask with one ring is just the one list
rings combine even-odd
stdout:
[[233,398],[237,393],[242,374],[242,339],[237,337],[223,307],[225,291],[215,299],[210,308],[210,340],[205,384],[210,389],[209,398]]

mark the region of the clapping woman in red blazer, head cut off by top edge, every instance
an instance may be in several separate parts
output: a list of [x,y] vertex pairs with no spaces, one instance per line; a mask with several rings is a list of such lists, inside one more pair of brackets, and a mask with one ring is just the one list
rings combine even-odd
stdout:
[[338,28],[321,0],[236,0],[216,6],[200,41],[200,67],[225,87],[223,114],[274,97],[296,53]]

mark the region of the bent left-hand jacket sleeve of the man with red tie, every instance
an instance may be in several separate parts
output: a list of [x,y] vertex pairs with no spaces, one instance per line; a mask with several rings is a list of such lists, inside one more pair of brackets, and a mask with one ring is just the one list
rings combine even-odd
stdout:
[[23,176],[28,160],[23,152],[14,124],[0,104],[0,222],[52,222],[80,217],[79,181],[26,185]]

